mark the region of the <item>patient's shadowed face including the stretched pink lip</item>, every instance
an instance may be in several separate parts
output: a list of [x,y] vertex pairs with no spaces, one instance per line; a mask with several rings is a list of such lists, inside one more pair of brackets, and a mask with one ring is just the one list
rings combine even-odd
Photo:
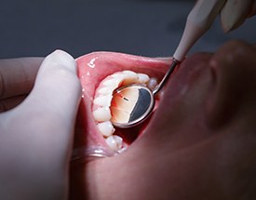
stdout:
[[[140,127],[116,129],[127,150],[74,160],[74,199],[253,199],[256,184],[256,50],[229,42],[182,62]],[[113,155],[93,116],[95,91],[124,70],[161,80],[171,59],[93,53],[77,60],[84,88],[74,149]]]

